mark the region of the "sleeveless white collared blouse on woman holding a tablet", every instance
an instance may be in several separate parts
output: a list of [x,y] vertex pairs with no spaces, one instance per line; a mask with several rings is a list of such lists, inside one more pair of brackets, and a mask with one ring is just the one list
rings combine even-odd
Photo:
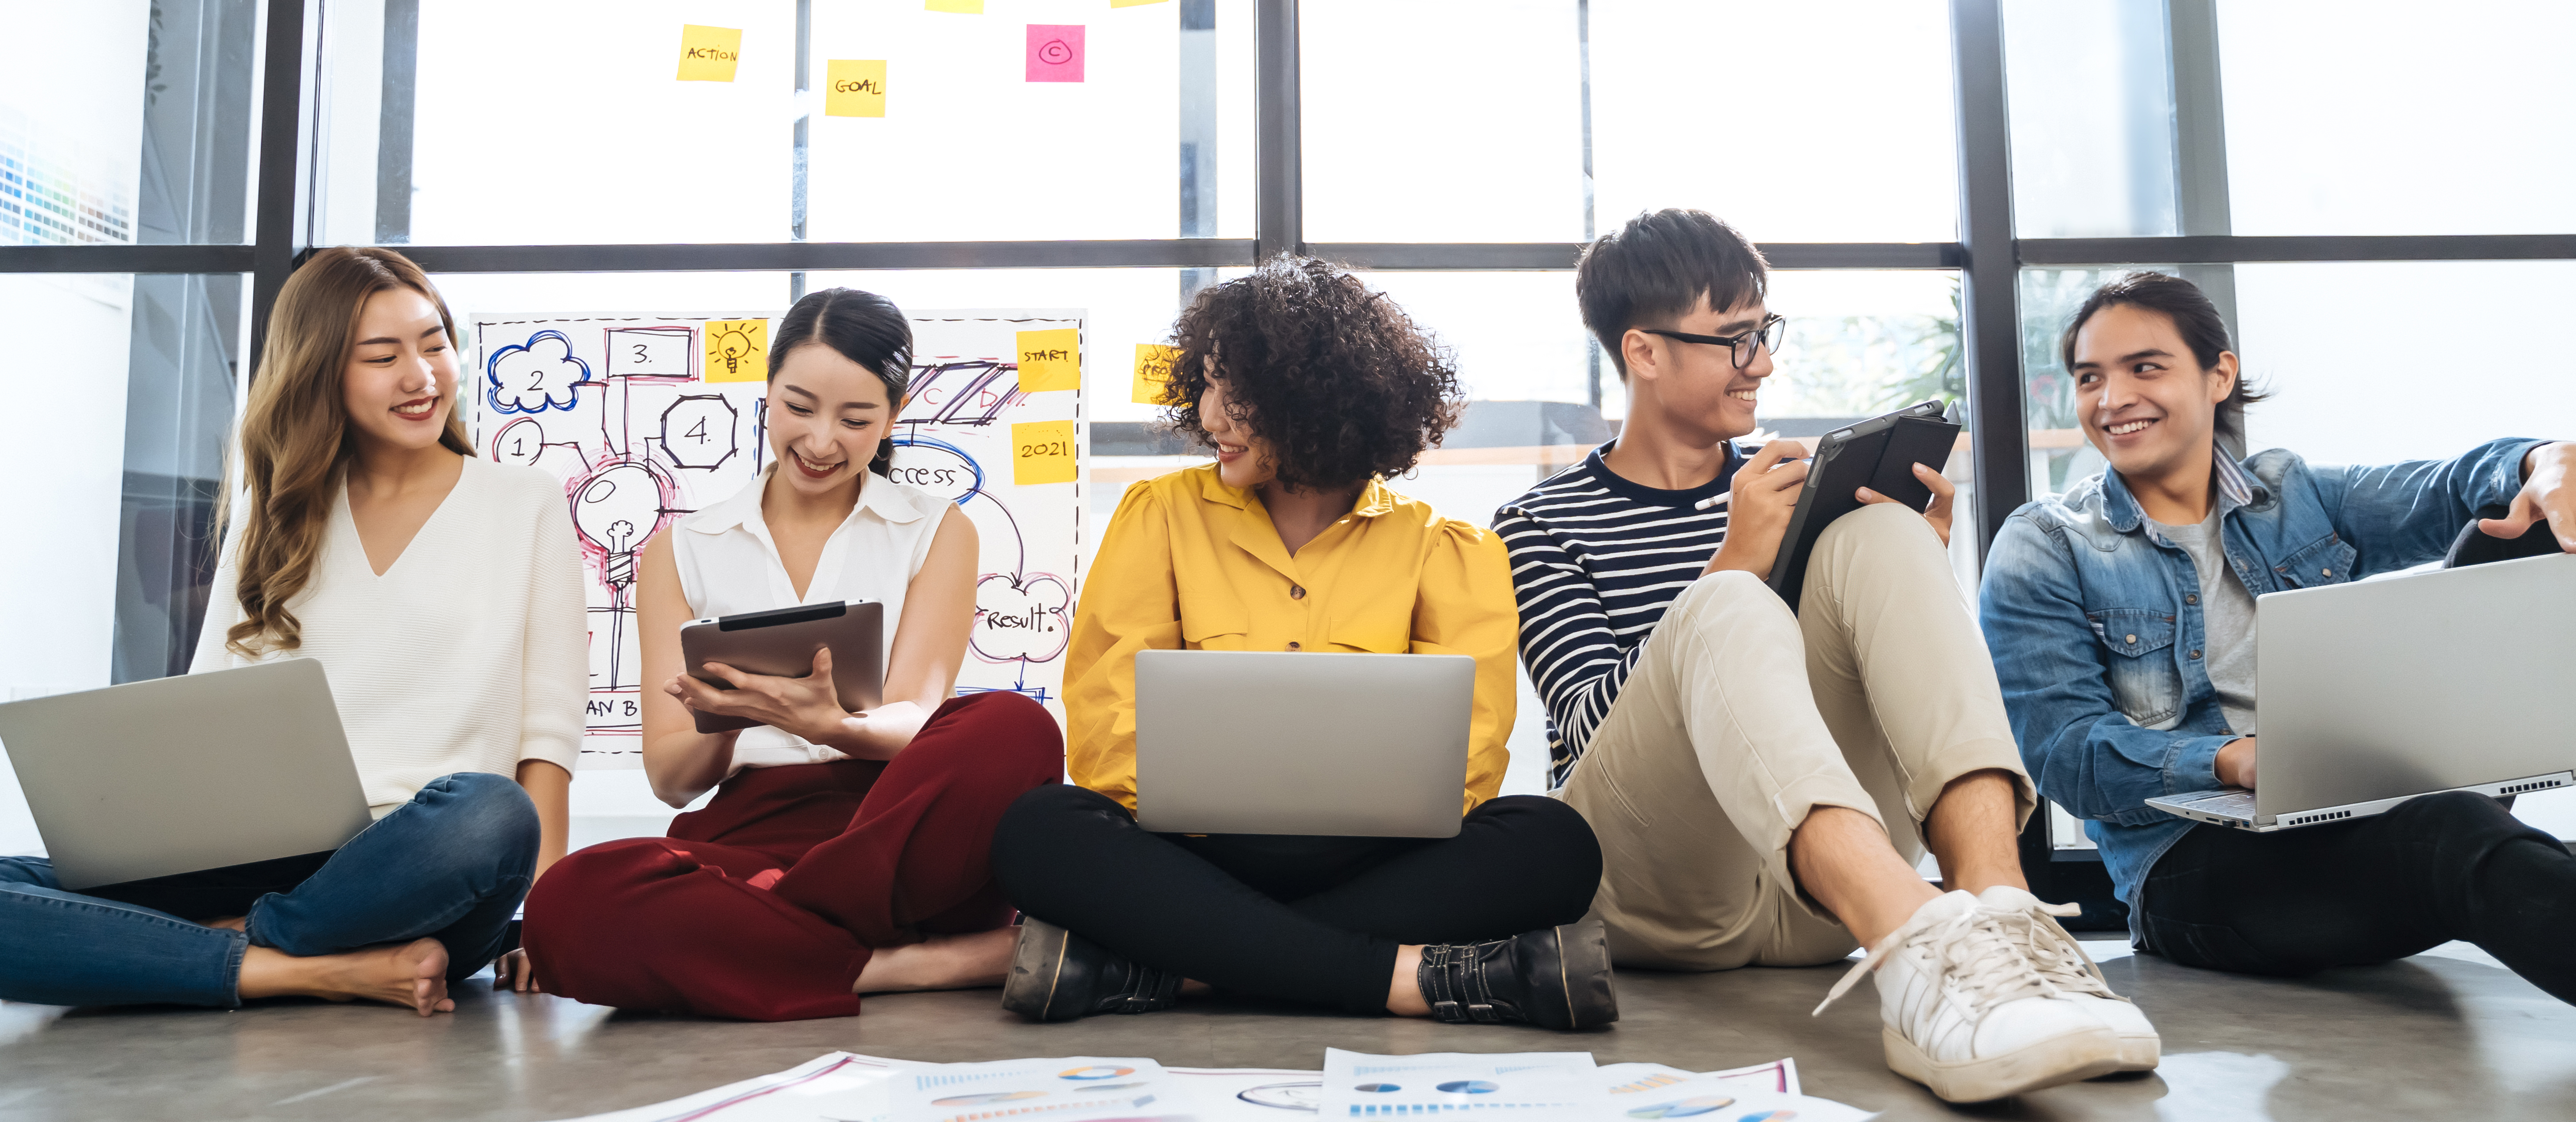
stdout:
[[[670,528],[670,556],[680,569],[680,594],[688,597],[690,618],[765,612],[770,607],[824,605],[837,600],[876,600],[886,605],[884,656],[894,654],[894,630],[904,618],[904,592],[912,576],[930,558],[930,540],[940,530],[948,499],[920,486],[896,484],[868,474],[858,489],[850,517],[832,530],[806,582],[804,600],[788,582],[788,566],[778,558],[778,540],[770,538],[760,517],[760,494],[770,484],[770,463],[732,499],[716,502]],[[755,726],[734,739],[734,764],[744,767],[827,764],[848,759],[837,749],[811,744],[804,736]]]

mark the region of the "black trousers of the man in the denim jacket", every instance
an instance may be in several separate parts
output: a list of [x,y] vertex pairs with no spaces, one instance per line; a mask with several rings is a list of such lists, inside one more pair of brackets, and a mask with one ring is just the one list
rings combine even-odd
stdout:
[[2576,857],[2486,795],[2280,834],[2195,826],[2141,903],[2138,950],[2182,965],[2303,975],[2465,939],[2576,1004]]

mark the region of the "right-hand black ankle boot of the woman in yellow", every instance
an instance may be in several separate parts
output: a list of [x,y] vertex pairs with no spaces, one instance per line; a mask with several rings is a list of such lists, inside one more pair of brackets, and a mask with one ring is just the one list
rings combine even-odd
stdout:
[[1422,986],[1432,1016],[1450,1024],[1589,1029],[1618,1019],[1600,919],[1494,942],[1422,947],[1414,986]]

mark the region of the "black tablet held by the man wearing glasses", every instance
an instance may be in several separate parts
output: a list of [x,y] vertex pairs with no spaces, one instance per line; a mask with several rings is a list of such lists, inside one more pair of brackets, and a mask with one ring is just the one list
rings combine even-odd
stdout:
[[1806,486],[1798,492],[1798,510],[1788,515],[1780,535],[1780,558],[1772,561],[1772,592],[1798,610],[1798,592],[1806,587],[1806,556],[1816,548],[1816,535],[1837,517],[1860,510],[1852,492],[1862,486],[1886,494],[1911,510],[1932,502],[1932,489],[1914,479],[1914,466],[1940,471],[1958,445],[1958,425],[1942,417],[1940,401],[1911,404],[1883,417],[1839,427],[1816,443],[1808,461]]

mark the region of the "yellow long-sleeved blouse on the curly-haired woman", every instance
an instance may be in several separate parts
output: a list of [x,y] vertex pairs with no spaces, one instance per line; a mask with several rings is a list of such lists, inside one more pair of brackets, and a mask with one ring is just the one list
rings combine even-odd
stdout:
[[[1064,767],[1136,808],[1136,651],[1358,651],[1476,659],[1466,795],[1502,790],[1520,615],[1502,538],[1370,481],[1288,556],[1252,492],[1185,468],[1128,486],[1092,558],[1064,656]],[[1247,690],[1257,690],[1247,682]]]

